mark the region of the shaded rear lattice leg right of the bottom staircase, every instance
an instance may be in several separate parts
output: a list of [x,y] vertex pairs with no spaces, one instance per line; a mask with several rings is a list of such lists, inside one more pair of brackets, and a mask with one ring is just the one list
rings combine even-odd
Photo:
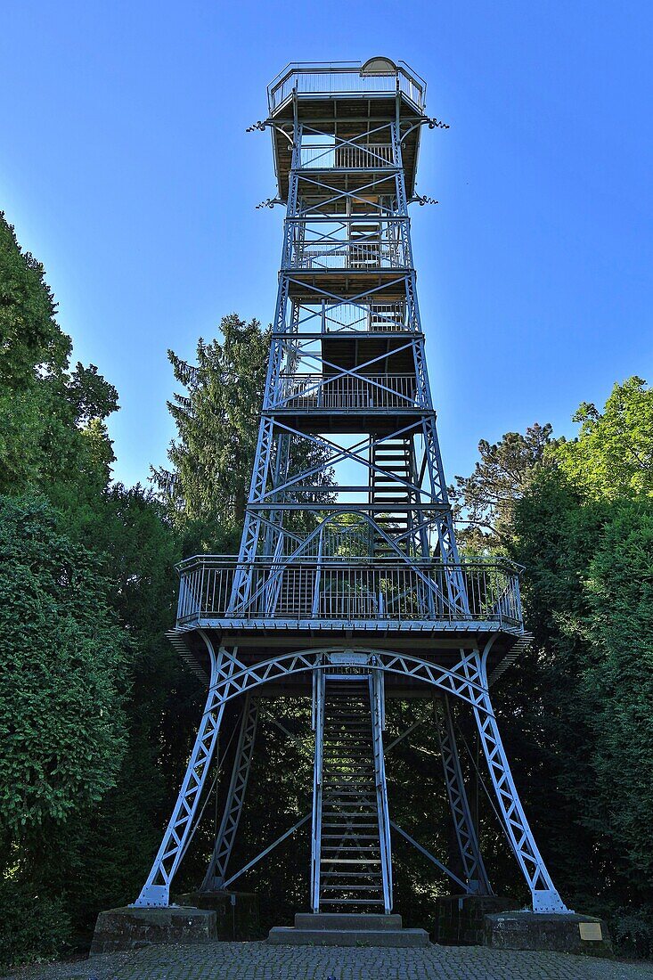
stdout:
[[478,846],[477,830],[465,789],[463,772],[456,746],[456,734],[449,698],[444,695],[435,701],[435,722],[442,756],[444,781],[449,807],[454,821],[456,839],[465,877],[470,891],[476,895],[492,895],[485,865]]

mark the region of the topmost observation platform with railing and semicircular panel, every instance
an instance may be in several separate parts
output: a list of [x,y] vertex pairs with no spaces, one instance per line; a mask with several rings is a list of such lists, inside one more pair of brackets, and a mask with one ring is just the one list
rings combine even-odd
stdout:
[[[411,196],[422,128],[416,123],[425,118],[426,94],[418,73],[389,58],[286,66],[268,87],[280,199],[287,199],[295,123],[302,126],[302,170],[328,172],[335,187],[355,172],[403,166]],[[401,161],[393,152],[390,123],[399,126]]]

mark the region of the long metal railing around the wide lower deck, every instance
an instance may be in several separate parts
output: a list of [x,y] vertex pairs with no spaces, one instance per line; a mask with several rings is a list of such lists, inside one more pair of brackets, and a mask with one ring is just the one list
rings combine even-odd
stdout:
[[[236,573],[246,584],[247,599],[239,606],[232,593]],[[466,609],[449,599],[461,576]],[[211,618],[522,625],[518,575],[505,565],[352,558],[288,564],[268,559],[239,569],[235,558],[188,560],[181,566],[177,622]]]

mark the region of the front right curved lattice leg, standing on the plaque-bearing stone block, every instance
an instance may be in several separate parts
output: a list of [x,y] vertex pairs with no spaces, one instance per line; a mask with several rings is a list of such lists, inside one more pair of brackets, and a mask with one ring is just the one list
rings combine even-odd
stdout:
[[480,744],[487,761],[490,779],[496,795],[503,824],[511,847],[526,878],[534,912],[569,912],[553,884],[544,859],[539,853],[528,825],[508,757],[501,741],[499,726],[492,710],[488,684],[486,657],[488,648],[481,655],[475,651],[463,662],[468,680],[477,685],[474,690],[474,714],[477,721]]

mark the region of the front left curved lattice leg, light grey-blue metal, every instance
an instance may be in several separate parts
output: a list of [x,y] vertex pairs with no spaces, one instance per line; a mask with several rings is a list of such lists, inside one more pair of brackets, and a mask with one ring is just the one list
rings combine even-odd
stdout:
[[190,840],[195,813],[225,712],[226,700],[224,697],[217,697],[214,688],[230,677],[236,667],[241,666],[236,660],[235,650],[227,651],[225,647],[221,647],[216,654],[208,636],[203,632],[201,635],[211,661],[209,694],[173,815],[152,870],[134,902],[136,907],[167,907],[170,904],[170,886]]

